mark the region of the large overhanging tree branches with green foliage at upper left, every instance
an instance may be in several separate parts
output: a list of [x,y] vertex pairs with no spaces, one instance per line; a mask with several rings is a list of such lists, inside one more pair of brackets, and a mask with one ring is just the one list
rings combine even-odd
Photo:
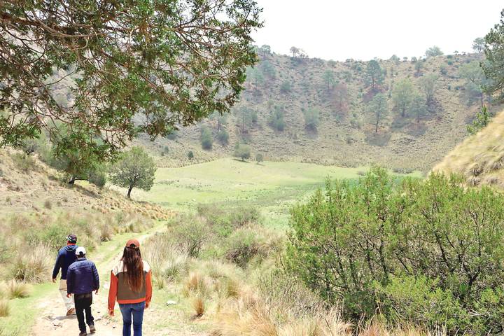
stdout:
[[[253,0],[0,1],[0,12],[0,145],[57,132],[59,120],[78,132],[51,134],[57,155],[80,148],[101,161],[138,134],[165,136],[228,112],[262,27]],[[49,80],[59,69],[73,75],[69,106]]]

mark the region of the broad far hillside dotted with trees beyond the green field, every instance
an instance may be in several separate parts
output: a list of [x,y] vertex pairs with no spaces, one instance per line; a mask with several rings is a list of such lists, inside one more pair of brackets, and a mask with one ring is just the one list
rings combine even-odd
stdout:
[[[188,164],[189,151],[195,153],[193,162],[202,162],[232,155],[237,142],[246,142],[252,155],[261,153],[266,160],[351,167],[376,162],[400,171],[427,172],[467,135],[465,125],[479,109],[479,99],[468,100],[467,80],[459,73],[461,66],[481,57],[379,60],[384,80],[372,89],[366,82],[367,62],[261,56],[255,70],[248,71],[246,90],[230,116],[213,116],[176,132],[171,139],[152,143],[144,138],[139,142],[156,153],[160,165],[166,167]],[[437,75],[433,102],[418,119],[411,112],[400,118],[391,94],[396,83],[410,78],[419,90],[421,78],[430,73]],[[333,76],[329,86],[327,76]],[[374,132],[369,102],[379,92],[388,97],[389,112]],[[274,130],[269,123],[275,109],[283,111],[283,130]],[[305,127],[303,114],[310,109],[319,111],[316,129]],[[202,127],[208,127],[214,137],[211,150],[202,150]],[[219,143],[219,128],[228,132],[228,144]]]

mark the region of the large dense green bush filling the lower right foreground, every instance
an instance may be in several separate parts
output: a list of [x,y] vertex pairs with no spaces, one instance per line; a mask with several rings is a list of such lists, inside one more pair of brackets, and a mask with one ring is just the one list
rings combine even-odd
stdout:
[[[292,210],[286,265],[344,316],[478,335],[504,328],[504,195],[458,176],[395,183],[374,168]],[[411,290],[407,289],[410,288]]]

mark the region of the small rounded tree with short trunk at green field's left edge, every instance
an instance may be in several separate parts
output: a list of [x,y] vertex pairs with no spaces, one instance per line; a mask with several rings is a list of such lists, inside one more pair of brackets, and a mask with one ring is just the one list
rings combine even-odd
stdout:
[[151,190],[156,169],[153,158],[144,149],[133,147],[120,155],[120,160],[111,167],[111,181],[127,188],[127,197],[131,198],[133,188]]

